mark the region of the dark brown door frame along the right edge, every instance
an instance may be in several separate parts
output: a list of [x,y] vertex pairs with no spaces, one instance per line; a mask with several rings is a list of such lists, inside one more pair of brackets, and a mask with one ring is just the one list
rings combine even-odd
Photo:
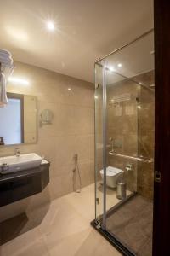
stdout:
[[155,174],[153,256],[170,255],[170,1],[154,1]]

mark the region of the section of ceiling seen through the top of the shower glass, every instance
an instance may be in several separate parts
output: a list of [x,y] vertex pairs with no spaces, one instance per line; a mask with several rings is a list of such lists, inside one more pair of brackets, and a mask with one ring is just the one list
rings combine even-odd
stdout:
[[[102,67],[106,70],[106,84],[115,84],[124,79],[133,79],[141,74],[148,73],[155,69],[154,58],[154,31],[140,37],[132,44],[117,50],[115,53],[98,61],[96,65],[96,81],[102,83]],[[118,65],[121,65],[119,67]],[[97,83],[98,83],[97,82]],[[138,81],[139,84],[142,81]],[[142,83],[143,84],[143,83]],[[146,84],[145,84],[146,85]]]

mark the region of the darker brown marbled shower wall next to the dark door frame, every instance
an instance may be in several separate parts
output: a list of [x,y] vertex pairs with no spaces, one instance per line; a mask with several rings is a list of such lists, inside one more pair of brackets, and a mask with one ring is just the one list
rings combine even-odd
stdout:
[[[150,86],[154,84],[154,72],[141,74],[138,79]],[[147,90],[141,87],[139,93],[139,155],[154,159],[155,135],[155,94],[154,89]],[[154,162],[138,163],[138,192],[152,200],[154,190]]]

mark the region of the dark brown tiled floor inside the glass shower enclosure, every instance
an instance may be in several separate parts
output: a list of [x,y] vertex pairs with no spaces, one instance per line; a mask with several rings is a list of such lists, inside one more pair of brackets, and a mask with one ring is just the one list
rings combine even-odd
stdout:
[[139,256],[152,255],[152,223],[153,202],[141,195],[110,212],[106,220],[107,230]]

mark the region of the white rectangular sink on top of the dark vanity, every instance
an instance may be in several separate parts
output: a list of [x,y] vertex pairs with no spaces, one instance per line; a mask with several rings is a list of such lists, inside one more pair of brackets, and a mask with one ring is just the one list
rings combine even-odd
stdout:
[[41,163],[42,157],[35,153],[0,157],[0,173],[8,174],[10,172],[36,168],[40,166]]

